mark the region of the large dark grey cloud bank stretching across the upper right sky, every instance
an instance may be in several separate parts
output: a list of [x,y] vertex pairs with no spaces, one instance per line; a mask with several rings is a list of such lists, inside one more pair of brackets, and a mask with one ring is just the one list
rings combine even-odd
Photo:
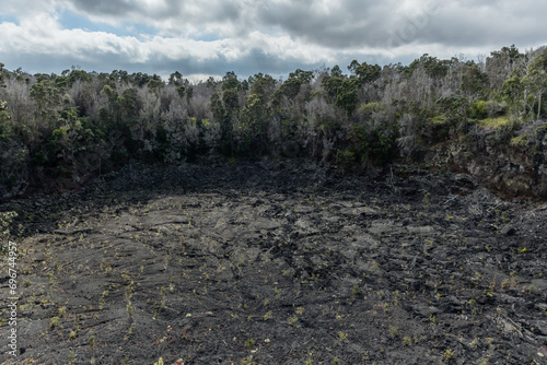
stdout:
[[547,3],[535,0],[274,0],[264,3],[166,0],[154,7],[147,1],[128,0],[70,0],[70,3],[83,13],[137,21],[171,35],[218,33],[220,37],[240,37],[258,28],[271,28],[293,39],[335,50],[416,43],[479,46],[501,38],[546,40],[538,30]]

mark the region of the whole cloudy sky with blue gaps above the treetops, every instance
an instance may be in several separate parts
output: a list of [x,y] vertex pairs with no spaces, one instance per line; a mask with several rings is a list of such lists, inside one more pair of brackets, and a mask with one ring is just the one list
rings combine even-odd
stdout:
[[60,73],[287,76],[547,45],[543,0],[0,0],[0,62]]

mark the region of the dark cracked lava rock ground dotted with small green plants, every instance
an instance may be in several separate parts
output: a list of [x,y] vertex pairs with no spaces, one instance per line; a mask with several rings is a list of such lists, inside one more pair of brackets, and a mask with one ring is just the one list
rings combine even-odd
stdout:
[[466,175],[132,166],[0,208],[5,364],[547,364],[547,205]]

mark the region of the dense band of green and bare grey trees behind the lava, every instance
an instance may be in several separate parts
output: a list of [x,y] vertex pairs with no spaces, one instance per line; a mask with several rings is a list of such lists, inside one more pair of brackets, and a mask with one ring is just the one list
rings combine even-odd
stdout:
[[[478,61],[423,55],[190,83],[146,73],[28,74],[0,68],[0,197],[66,189],[131,162],[205,156],[306,157],[342,169],[419,163],[431,146],[499,130],[500,143],[545,113],[547,48],[503,47]],[[544,128],[545,129],[545,128]],[[474,134],[475,133],[475,134]],[[545,131],[543,131],[543,134]]]

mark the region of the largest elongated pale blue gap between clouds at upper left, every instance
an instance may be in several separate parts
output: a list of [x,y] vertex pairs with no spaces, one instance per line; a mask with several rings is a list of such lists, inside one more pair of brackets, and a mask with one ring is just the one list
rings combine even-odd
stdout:
[[151,26],[144,26],[135,23],[123,23],[119,26],[114,26],[108,23],[93,22],[86,16],[74,14],[69,11],[59,13],[59,23],[66,30],[84,30],[86,32],[105,32],[116,34],[118,36],[155,35],[158,31]]

